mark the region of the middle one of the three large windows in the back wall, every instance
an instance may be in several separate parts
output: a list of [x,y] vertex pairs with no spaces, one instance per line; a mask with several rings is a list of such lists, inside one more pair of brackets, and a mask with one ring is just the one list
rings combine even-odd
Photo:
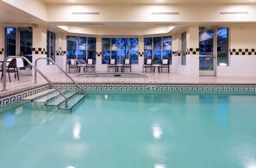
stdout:
[[117,64],[124,59],[138,64],[138,38],[103,38],[103,64],[109,64],[110,59],[116,59]]

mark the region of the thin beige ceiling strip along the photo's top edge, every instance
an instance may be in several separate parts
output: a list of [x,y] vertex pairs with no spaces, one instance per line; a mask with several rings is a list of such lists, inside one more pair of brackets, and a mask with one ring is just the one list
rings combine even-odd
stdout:
[[256,0],[40,0],[44,3],[80,3],[80,4],[195,4],[195,3],[256,3]]

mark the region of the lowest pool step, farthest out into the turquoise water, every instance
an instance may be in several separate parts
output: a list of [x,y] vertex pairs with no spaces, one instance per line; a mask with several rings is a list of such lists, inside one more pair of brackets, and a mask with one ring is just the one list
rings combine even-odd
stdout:
[[76,95],[70,97],[67,99],[67,102],[60,103],[58,106],[58,109],[66,109],[66,110],[71,110],[77,103],[79,103],[85,94],[77,93]]

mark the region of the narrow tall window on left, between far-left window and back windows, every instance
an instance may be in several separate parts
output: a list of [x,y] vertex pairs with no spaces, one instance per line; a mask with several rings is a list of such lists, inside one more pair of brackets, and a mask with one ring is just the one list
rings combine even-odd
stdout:
[[[47,30],[47,58],[55,61],[55,34]],[[47,65],[52,64],[47,60]]]

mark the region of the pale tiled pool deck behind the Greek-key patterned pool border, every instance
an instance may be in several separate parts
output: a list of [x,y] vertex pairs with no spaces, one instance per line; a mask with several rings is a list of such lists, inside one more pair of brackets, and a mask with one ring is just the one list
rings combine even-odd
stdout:
[[[101,73],[101,72],[98,72]],[[136,72],[134,72],[136,73]],[[70,76],[78,84],[256,84],[256,77],[238,78],[238,77],[215,77],[215,76],[200,76],[188,77],[176,73],[159,73],[159,72],[143,72],[139,73],[143,78],[91,78],[90,75],[83,76],[84,73],[70,73]],[[47,75],[53,83],[72,84],[72,81],[64,74],[58,73]],[[3,91],[3,81],[0,84],[0,97],[16,93],[21,90],[38,87],[47,84],[47,81],[38,76],[38,84],[34,84],[34,77],[31,75],[20,75],[20,80],[17,80],[11,74],[11,83],[7,77],[6,91]]]

